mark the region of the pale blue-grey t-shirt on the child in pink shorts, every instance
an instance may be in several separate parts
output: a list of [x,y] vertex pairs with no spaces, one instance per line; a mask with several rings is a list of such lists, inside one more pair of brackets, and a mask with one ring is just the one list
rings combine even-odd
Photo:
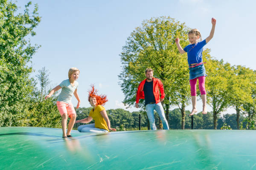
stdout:
[[66,79],[63,82],[61,82],[59,86],[61,86],[61,94],[58,96],[57,101],[70,103],[72,99],[72,95],[76,90],[76,88],[78,87],[78,82],[75,81],[74,86],[72,86],[70,84],[69,79]]

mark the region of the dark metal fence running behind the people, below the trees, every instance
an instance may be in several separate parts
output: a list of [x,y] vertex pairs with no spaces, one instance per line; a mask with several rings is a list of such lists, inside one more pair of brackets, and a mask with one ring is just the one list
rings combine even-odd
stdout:
[[[131,116],[131,115],[127,115]],[[160,129],[160,118],[158,114],[154,114],[155,125],[157,129]],[[126,130],[139,130],[140,127],[145,130],[145,127],[148,127],[147,115],[140,114],[138,116],[133,117],[132,120],[126,120],[125,122],[116,121],[114,117],[109,116],[111,126],[115,128],[125,128]],[[244,117],[240,116],[240,124],[245,127],[243,122]],[[169,115],[168,124],[170,129],[181,129],[181,115]],[[236,115],[222,115],[217,117],[217,129],[221,129],[221,127],[226,124],[229,125],[232,129],[237,129]],[[193,115],[193,116],[185,116],[185,129],[214,129],[213,125],[213,115]]]

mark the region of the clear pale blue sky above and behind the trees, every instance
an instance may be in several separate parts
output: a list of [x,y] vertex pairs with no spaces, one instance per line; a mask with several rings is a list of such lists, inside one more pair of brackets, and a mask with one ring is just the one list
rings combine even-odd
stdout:
[[[18,0],[17,5],[23,7],[27,2]],[[32,76],[46,67],[53,88],[68,78],[69,68],[79,68],[81,107],[90,106],[87,90],[94,84],[99,94],[108,96],[106,109],[125,108],[117,77],[122,66],[119,54],[131,32],[151,17],[170,16],[185,22],[190,28],[198,28],[203,39],[209,35],[211,18],[215,17],[215,35],[205,46],[211,49],[210,54],[232,65],[256,70],[254,0],[32,0],[32,3],[38,3],[42,17],[35,29],[37,35],[31,38],[32,43],[41,45],[32,58],[35,69]],[[72,102],[77,104],[75,97]],[[198,101],[198,110],[201,108]],[[211,111],[209,106],[208,110]]]

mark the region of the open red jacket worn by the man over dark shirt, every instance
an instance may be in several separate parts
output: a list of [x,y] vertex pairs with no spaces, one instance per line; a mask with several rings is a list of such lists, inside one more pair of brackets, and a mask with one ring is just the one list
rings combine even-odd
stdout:
[[[142,82],[140,82],[140,85],[138,87],[137,94],[136,94],[136,103],[139,103],[140,99],[145,98],[144,91],[143,91],[143,87],[144,87],[145,82],[146,82],[146,79],[143,80]],[[164,94],[164,89],[163,89],[163,83],[161,82],[160,79],[157,79],[157,78],[153,77],[153,94],[154,94],[156,103],[160,102],[159,89],[160,89],[160,92],[161,92],[161,99],[164,99],[165,94]]]

